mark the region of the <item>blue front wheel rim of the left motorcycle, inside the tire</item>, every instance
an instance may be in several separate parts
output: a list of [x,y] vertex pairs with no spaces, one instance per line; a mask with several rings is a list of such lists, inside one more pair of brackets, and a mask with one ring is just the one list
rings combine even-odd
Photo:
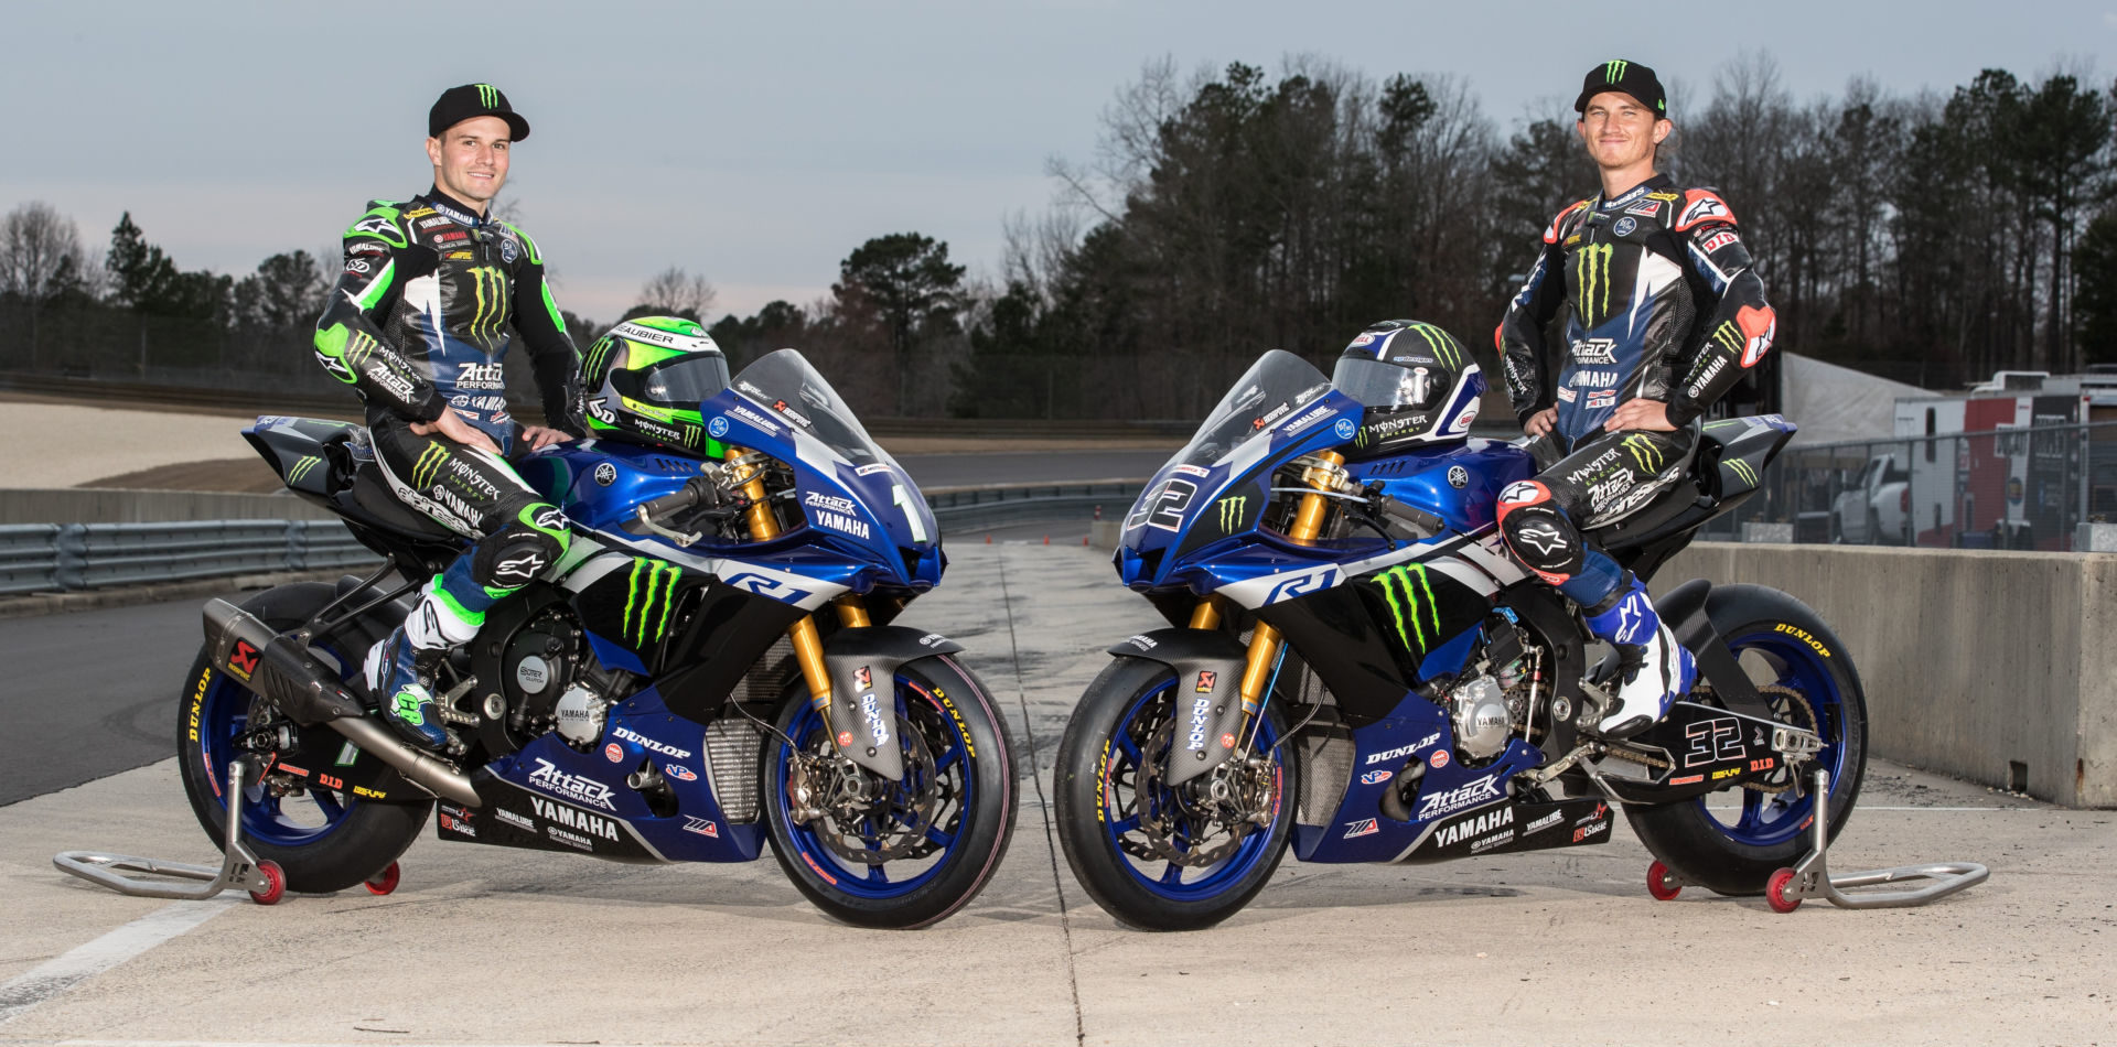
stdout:
[[[785,825],[788,835],[794,842],[794,857],[807,865],[811,874],[821,876],[824,882],[836,890],[868,901],[900,899],[934,882],[934,878],[948,869],[955,857],[963,850],[972,812],[978,808],[978,776],[974,774],[974,757],[970,755],[972,742],[963,736],[963,728],[948,717],[940,700],[936,700],[925,685],[902,675],[895,677],[895,709],[900,728],[904,721],[910,721],[915,728],[923,728],[921,738],[925,738],[927,749],[934,755],[934,774],[951,783],[953,789],[942,802],[936,804],[931,825],[925,831],[927,842],[936,844],[938,850],[919,859],[860,865],[824,846],[817,835],[817,825],[832,825],[828,814],[813,819],[809,825],[794,825],[792,821]],[[819,745],[828,742],[824,738],[824,715],[809,702],[802,702],[788,736],[794,738],[802,751],[817,751]],[[788,742],[779,742],[773,757],[773,800],[768,800],[773,804],[785,804],[788,766],[792,766],[792,757],[794,751]],[[906,766],[904,783],[900,783],[898,789],[912,791],[927,787],[929,783]],[[906,827],[902,816],[893,821],[898,827]],[[864,827],[872,827],[872,819],[864,821]],[[864,838],[864,844],[872,848],[879,838],[881,833]],[[906,874],[904,865],[910,863],[925,865]],[[895,871],[891,871],[893,867]]]

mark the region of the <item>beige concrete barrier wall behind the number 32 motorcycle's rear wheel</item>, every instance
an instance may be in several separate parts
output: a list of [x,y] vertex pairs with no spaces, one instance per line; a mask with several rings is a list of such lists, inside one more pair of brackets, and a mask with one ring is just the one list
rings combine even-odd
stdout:
[[1869,751],[2117,808],[2117,556],[1698,541],[1653,577],[1816,609],[1867,690]]

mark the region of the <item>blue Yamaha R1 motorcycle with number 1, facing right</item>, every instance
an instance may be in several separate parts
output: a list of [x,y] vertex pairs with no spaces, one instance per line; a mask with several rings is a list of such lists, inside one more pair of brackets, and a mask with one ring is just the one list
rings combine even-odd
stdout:
[[[752,861],[766,838],[824,912],[925,926],[1014,829],[1006,725],[946,637],[891,620],[940,582],[910,476],[792,349],[701,404],[722,461],[610,440],[519,472],[576,537],[442,673],[447,759],[398,742],[360,658],[462,539],[398,503],[358,425],[246,436],[341,514],[383,571],[205,609],[178,745],[220,840],[231,759],[263,764],[243,833],[294,890],[396,882],[436,797],[442,840],[612,861]],[[387,571],[411,580],[381,590]]]

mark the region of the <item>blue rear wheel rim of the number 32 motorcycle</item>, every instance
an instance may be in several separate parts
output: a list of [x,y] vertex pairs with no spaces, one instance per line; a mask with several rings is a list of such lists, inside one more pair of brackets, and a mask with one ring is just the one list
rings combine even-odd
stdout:
[[[1814,766],[1831,772],[1831,810],[1838,810],[1838,797],[1846,789],[1846,700],[1829,664],[1806,643],[1785,632],[1749,632],[1730,641],[1727,647],[1736,658],[1744,651],[1763,656],[1763,662],[1776,673],[1776,679],[1763,683],[1789,687],[1808,700],[1808,709],[1816,715],[1816,734],[1823,738],[1823,751],[1816,753]],[[1738,789],[1738,793],[1742,795],[1740,810],[1715,810],[1706,806],[1706,797],[1696,800],[1713,827],[1736,844],[1759,848],[1785,844],[1808,829],[1816,810],[1814,795],[1806,791]]]

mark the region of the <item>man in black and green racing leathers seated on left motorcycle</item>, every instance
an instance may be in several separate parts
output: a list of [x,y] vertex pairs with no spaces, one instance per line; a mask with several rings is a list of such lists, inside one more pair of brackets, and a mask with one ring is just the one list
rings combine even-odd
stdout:
[[[428,135],[434,188],[409,203],[375,201],[345,231],[345,273],[315,324],[315,357],[366,400],[375,461],[396,497],[472,539],[366,658],[383,719],[442,751],[451,738],[434,709],[434,668],[569,539],[565,512],[504,455],[584,429],[580,360],[544,258],[523,231],[485,214],[529,123],[491,85],[464,85],[434,102]],[[506,412],[510,328],[529,349],[548,427],[517,429]]]

